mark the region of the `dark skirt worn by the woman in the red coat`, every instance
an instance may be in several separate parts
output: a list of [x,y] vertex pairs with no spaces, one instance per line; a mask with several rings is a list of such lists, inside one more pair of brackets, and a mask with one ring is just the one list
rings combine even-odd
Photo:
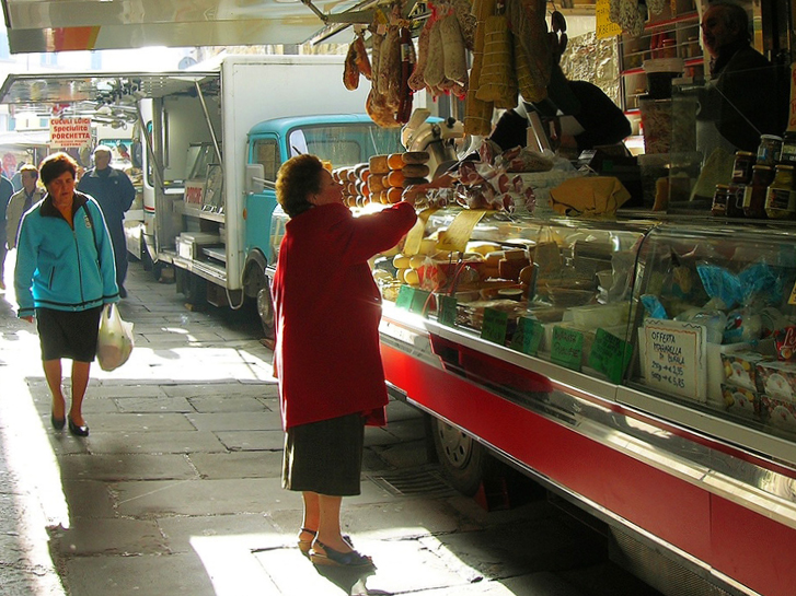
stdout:
[[360,413],[288,429],[282,488],[330,496],[359,494],[364,443],[365,418]]

